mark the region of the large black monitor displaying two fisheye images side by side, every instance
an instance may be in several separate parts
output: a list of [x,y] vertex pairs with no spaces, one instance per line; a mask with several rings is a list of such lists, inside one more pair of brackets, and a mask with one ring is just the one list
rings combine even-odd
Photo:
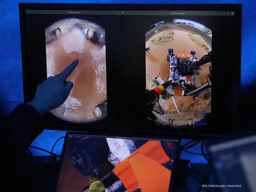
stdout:
[[241,79],[241,4],[20,5],[24,100],[75,59],[47,129],[231,132]]

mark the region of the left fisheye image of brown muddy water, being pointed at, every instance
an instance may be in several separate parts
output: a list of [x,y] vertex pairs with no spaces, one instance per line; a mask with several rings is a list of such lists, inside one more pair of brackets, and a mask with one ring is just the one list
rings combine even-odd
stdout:
[[105,29],[82,19],[63,19],[45,29],[47,77],[79,63],[67,81],[74,83],[67,100],[50,112],[72,123],[91,123],[107,116]]

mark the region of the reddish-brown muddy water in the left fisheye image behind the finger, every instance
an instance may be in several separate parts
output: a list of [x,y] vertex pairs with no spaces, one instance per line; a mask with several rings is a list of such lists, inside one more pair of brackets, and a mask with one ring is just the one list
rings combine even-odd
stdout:
[[67,78],[74,83],[68,99],[51,112],[74,123],[97,121],[92,111],[107,100],[105,49],[88,41],[80,29],[73,28],[46,45],[46,59],[48,76],[59,74],[75,59],[79,60]]

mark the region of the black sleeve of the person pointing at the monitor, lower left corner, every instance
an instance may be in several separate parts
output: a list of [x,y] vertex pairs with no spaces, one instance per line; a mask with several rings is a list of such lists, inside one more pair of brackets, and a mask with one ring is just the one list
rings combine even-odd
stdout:
[[43,192],[44,180],[38,167],[25,155],[31,142],[43,131],[38,111],[28,104],[20,104],[9,116],[1,118],[0,190]]

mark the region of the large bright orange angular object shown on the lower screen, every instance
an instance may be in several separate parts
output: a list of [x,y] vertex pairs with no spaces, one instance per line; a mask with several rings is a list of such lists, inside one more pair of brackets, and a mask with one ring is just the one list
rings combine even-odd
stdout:
[[148,141],[118,163],[114,173],[129,192],[138,188],[142,192],[167,192],[171,170],[162,163],[169,161],[171,159],[165,154],[160,141]]

